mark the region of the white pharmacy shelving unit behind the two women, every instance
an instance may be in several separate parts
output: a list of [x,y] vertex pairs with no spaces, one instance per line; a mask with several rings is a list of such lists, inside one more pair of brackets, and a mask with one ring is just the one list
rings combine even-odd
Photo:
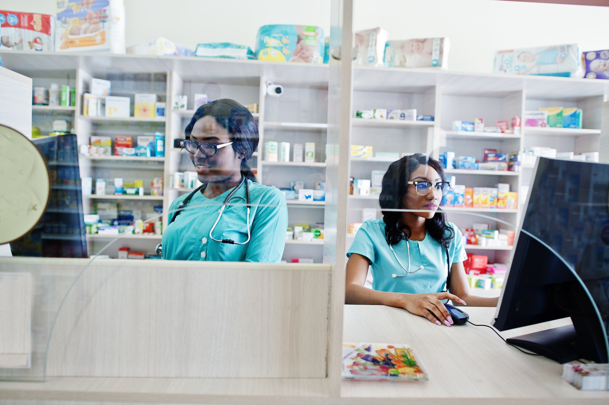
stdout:
[[[33,78],[33,86],[76,86],[79,97],[74,108],[33,108],[33,125],[44,120],[51,125],[51,117],[71,117],[79,142],[88,144],[92,134],[141,135],[155,131],[166,133],[164,159],[80,159],[82,176],[106,176],[108,194],[111,179],[123,177],[125,181],[163,177],[162,199],[114,199],[105,196],[85,196],[85,207],[96,201],[119,201],[119,207],[130,204],[162,204],[167,223],[169,204],[188,189],[174,189],[170,179],[175,171],[190,170],[188,154],[173,148],[174,139],[183,139],[186,124],[194,114],[192,101],[195,93],[205,93],[209,100],[230,98],[243,104],[258,103],[256,119],[259,123],[260,142],[250,165],[256,170],[263,184],[287,187],[290,181],[304,181],[312,188],[315,182],[325,181],[325,143],[327,133],[328,66],[300,63],[276,63],[256,60],[214,60],[195,57],[154,57],[108,54],[61,54],[27,51],[1,51],[4,66]],[[167,103],[164,119],[141,120],[83,117],[80,101],[91,77],[113,80],[113,94],[133,96],[136,92],[155,92]],[[117,86],[114,85],[117,81]],[[283,85],[281,97],[266,94],[266,82]],[[127,83],[132,83],[133,87]],[[147,83],[147,88],[143,84]],[[123,93],[116,92],[122,86]],[[188,95],[188,109],[174,111],[172,101],[176,95]],[[575,153],[598,151],[600,139],[601,103],[609,100],[609,83],[605,80],[587,80],[564,77],[537,77],[519,75],[467,74],[427,69],[400,69],[381,67],[354,67],[353,111],[351,114],[351,144],[371,145],[374,152],[397,151],[400,153],[427,153],[438,157],[447,150],[456,156],[476,156],[482,159],[484,148],[496,148],[501,153],[523,150],[533,146],[556,148],[559,152]],[[529,128],[521,134],[457,133],[452,131],[453,120],[485,120],[487,126],[497,120],[510,120],[523,116],[523,112],[542,106],[578,107],[583,109],[583,129]],[[393,121],[356,119],[356,109],[410,109],[417,114],[433,115],[435,120]],[[38,119],[37,117],[45,117]],[[42,125],[42,126],[41,126]],[[41,129],[44,128],[41,123]],[[50,128],[49,128],[50,131]],[[44,131],[43,131],[44,133]],[[275,140],[294,143],[315,142],[314,163],[266,162],[264,142]],[[353,178],[368,179],[371,170],[386,170],[391,159],[369,157],[352,158],[349,162]],[[105,173],[105,175],[104,175]],[[114,173],[114,174],[112,174]],[[457,184],[468,187],[493,187],[498,182],[509,183],[519,192],[523,201],[530,183],[531,168],[521,172],[487,172],[447,170],[456,176]],[[146,190],[149,194],[149,189]],[[156,197],[158,198],[158,197]],[[323,202],[314,204],[288,201],[289,226],[295,223],[314,225],[324,220]],[[362,209],[378,206],[378,197],[348,198],[348,222],[361,222]],[[147,208],[147,209],[149,209]],[[470,227],[474,222],[488,222],[496,229],[504,227],[493,218],[517,224],[522,214],[522,204],[513,210],[445,209],[450,221],[459,227]],[[472,214],[485,215],[477,217]],[[379,218],[381,213],[378,212]],[[490,218],[490,219],[489,219]],[[507,227],[507,226],[505,226]],[[343,230],[348,232],[347,229]],[[107,237],[90,237],[90,246],[99,249]],[[353,238],[348,238],[348,241]],[[133,235],[128,240],[114,243],[108,253],[116,257],[116,249],[131,246],[152,252],[158,236]],[[289,241],[284,259],[293,257],[322,260],[323,241]],[[510,250],[482,246],[469,246],[469,251],[488,254],[491,260],[505,261]]]

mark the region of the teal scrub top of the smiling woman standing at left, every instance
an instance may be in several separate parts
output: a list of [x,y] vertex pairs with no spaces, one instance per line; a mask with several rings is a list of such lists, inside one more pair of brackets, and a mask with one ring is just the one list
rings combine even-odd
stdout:
[[[286,246],[287,204],[279,189],[247,180],[250,186],[250,241],[247,244],[220,243],[209,237],[209,230],[218,218],[222,202],[233,190],[209,199],[197,192],[185,209],[163,232],[163,258],[168,260],[259,261],[278,263]],[[169,221],[180,202],[188,194],[176,198],[169,207]],[[239,198],[242,197],[242,198]],[[247,208],[245,184],[231,197],[222,218],[214,228],[217,240],[247,240]]]

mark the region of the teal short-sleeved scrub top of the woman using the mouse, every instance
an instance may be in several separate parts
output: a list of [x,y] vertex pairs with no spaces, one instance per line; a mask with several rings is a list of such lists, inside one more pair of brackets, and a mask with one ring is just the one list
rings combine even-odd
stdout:
[[[448,245],[448,255],[452,263],[458,263],[467,258],[463,246],[463,235],[453,223],[447,223],[454,230],[454,239]],[[408,249],[406,241],[401,240],[393,245],[396,256],[408,269]],[[392,274],[406,274],[400,263],[395,259],[389,244],[385,239],[385,221],[365,221],[357,230],[355,239],[347,257],[352,253],[367,257],[372,270],[372,288],[377,291],[406,292],[407,294],[423,294],[426,292],[441,292],[446,288],[448,266],[446,265],[446,249],[438,243],[429,232],[421,241],[410,241],[410,271],[415,271],[423,265],[423,269],[410,273],[405,277],[391,277]]]

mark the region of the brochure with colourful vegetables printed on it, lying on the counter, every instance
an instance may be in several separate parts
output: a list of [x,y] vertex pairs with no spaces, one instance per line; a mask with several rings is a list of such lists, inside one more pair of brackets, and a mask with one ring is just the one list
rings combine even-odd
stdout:
[[346,342],[342,354],[345,379],[428,381],[408,345]]

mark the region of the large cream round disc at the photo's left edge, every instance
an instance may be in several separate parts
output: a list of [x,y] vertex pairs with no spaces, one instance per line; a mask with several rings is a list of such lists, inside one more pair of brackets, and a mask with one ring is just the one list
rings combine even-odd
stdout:
[[49,202],[49,171],[23,134],[0,125],[0,244],[27,234]]

